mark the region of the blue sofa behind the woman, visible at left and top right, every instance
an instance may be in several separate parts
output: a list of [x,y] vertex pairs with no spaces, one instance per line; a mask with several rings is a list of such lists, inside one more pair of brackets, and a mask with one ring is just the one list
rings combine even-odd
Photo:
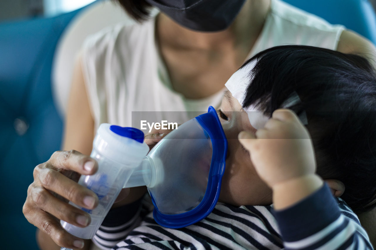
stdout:
[[[287,0],[376,44],[376,18],[366,0]],[[34,167],[61,145],[63,121],[51,92],[56,44],[77,11],[54,18],[0,23],[0,249],[38,249],[22,214]]]

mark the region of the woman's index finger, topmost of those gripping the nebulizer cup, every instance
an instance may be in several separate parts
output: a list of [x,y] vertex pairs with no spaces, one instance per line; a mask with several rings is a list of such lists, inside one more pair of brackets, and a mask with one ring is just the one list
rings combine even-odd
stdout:
[[97,172],[98,163],[76,150],[56,151],[47,161],[47,167],[71,170],[81,175],[92,175]]

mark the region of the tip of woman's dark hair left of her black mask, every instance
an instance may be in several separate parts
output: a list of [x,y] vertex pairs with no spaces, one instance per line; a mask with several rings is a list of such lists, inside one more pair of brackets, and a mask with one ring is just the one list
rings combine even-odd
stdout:
[[118,0],[125,11],[136,21],[145,21],[149,18],[151,5],[146,0]]

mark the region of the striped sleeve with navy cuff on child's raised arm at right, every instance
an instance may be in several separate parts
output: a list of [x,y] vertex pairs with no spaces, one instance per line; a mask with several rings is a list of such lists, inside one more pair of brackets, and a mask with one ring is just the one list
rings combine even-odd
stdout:
[[306,199],[274,211],[285,249],[373,249],[358,218],[323,185]]

